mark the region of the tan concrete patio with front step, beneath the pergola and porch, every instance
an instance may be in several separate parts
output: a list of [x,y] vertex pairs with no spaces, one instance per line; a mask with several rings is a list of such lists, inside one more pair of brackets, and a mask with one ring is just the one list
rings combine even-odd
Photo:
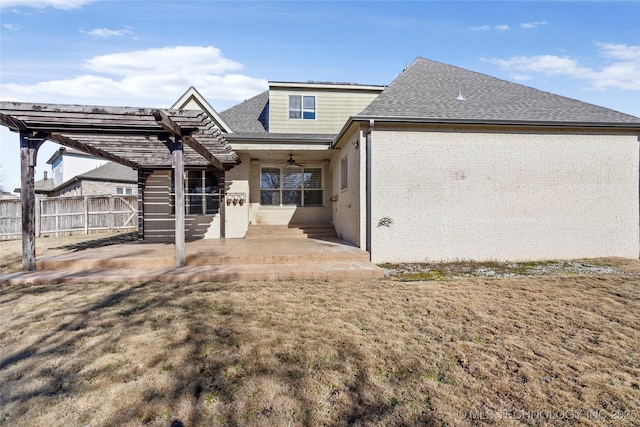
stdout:
[[339,239],[212,239],[175,246],[129,242],[38,259],[36,271],[2,276],[4,285],[89,282],[234,280],[361,280],[384,272],[369,254]]

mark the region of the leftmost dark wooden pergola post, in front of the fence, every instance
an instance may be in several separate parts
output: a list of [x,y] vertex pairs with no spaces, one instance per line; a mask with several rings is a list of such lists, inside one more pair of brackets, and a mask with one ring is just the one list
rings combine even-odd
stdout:
[[22,196],[22,269],[36,269],[35,166],[38,148],[45,138],[20,132],[20,181]]

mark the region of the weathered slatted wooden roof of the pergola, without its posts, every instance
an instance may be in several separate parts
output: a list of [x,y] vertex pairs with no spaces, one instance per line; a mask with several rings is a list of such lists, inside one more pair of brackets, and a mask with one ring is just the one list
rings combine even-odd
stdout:
[[0,124],[134,169],[170,167],[175,136],[182,137],[187,166],[239,163],[201,111],[1,102]]

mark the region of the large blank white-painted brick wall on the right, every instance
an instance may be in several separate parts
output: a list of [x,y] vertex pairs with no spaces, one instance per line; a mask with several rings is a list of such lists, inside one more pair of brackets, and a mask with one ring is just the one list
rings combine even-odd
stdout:
[[638,256],[634,136],[373,133],[375,262]]

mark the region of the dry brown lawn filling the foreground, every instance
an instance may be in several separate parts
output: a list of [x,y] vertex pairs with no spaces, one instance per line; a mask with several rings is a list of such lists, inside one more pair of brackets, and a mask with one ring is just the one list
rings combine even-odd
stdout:
[[636,426],[639,291],[638,275],[5,286],[0,424]]

